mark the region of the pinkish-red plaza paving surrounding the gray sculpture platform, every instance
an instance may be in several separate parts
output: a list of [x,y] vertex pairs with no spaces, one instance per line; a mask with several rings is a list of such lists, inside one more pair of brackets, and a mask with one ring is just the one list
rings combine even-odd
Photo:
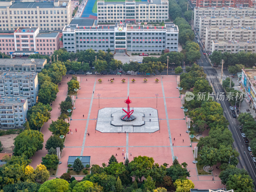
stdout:
[[[198,176],[196,165],[192,163],[194,160],[192,149],[196,143],[192,143],[192,148],[190,147],[190,140],[186,133],[186,120],[183,119],[184,112],[180,108],[179,91],[176,89],[176,76],[163,76],[164,78],[161,78],[162,76],[146,76],[147,83],[143,82],[144,77],[128,75],[121,77],[114,75],[113,77],[115,81],[110,83],[108,79],[112,76],[80,75],[81,89],[78,92],[76,109],[73,111],[70,122],[73,134],[68,134],[65,140],[65,148],[60,159],[62,164],[59,165],[57,177],[67,172],[68,156],[91,156],[91,164],[101,165],[103,162],[108,163],[110,156],[115,154],[117,154],[118,162],[124,162],[122,151],[124,149],[124,153],[129,154],[130,161],[133,157],[141,155],[153,157],[158,164],[171,165],[172,157],[177,156],[180,163],[188,164],[187,168],[191,175],[189,179],[195,183],[195,188],[204,189],[205,186],[211,189],[222,188],[219,177],[214,176],[214,181],[212,181],[212,175]],[[102,83],[98,82],[99,78],[102,79]],[[126,79],[125,83],[121,82],[123,78]],[[132,78],[136,80],[135,83],[131,82]],[[158,83],[155,82],[156,78],[159,79]],[[57,108],[60,101],[66,98],[66,83],[67,77],[63,77],[62,85],[59,86],[60,92],[52,104],[52,120],[56,120],[60,115]],[[158,94],[157,108],[156,94]],[[152,107],[158,110],[160,131],[154,133],[101,133],[95,131],[97,122],[94,118],[97,118],[98,110],[104,107],[126,107],[124,100],[128,95],[132,100],[131,107]],[[42,128],[44,143],[51,135],[48,130],[49,123],[47,122]],[[41,157],[45,156],[46,152],[45,149],[38,151],[32,158],[31,165],[35,167],[36,164],[41,163]],[[213,170],[214,175],[215,173],[219,175],[219,172],[220,170]],[[55,177],[50,179],[53,178]],[[76,179],[82,179],[82,177],[76,177]]]

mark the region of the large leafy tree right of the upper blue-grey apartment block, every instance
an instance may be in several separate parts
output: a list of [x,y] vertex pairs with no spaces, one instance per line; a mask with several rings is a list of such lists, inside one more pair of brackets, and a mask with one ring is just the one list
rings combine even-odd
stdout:
[[50,104],[55,101],[58,92],[58,85],[45,81],[38,92],[38,100],[43,104]]

